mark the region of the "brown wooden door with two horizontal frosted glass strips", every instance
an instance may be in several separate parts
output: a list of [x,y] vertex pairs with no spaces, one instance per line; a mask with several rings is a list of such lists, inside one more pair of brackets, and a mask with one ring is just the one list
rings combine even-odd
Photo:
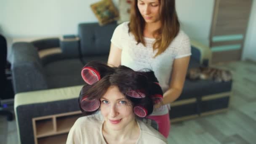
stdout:
[[212,63],[241,59],[252,0],[215,0],[210,35]]

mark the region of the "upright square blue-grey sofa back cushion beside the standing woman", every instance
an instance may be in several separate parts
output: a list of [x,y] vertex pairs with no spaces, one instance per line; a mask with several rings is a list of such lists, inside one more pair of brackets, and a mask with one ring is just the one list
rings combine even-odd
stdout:
[[100,26],[99,23],[83,23],[78,25],[82,56],[106,55],[110,49],[110,39],[116,22]]

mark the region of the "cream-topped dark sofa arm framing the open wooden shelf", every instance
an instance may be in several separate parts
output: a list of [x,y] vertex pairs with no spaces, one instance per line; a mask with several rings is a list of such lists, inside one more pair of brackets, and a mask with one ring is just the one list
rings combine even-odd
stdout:
[[17,93],[14,112],[20,144],[34,144],[32,118],[79,111],[83,85]]

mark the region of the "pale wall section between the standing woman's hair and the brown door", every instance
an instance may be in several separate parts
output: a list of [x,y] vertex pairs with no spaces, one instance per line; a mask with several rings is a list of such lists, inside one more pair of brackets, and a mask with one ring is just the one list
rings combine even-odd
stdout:
[[176,0],[181,28],[190,38],[209,45],[215,0]]

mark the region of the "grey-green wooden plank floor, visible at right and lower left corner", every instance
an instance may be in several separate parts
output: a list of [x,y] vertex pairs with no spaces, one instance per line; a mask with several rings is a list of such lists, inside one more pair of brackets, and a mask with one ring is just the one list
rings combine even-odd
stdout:
[[[171,125],[169,144],[256,144],[256,63],[218,64],[233,74],[228,112]],[[16,122],[0,116],[0,144],[17,144]]]

